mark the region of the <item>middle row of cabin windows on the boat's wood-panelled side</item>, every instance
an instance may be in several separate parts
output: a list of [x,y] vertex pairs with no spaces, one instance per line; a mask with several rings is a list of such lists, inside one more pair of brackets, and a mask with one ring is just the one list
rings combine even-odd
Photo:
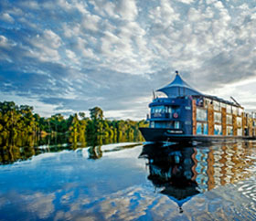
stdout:
[[[232,124],[232,115],[226,115],[226,123]],[[208,121],[208,110],[197,108],[197,121]],[[220,112],[214,112],[214,122],[221,123],[222,117]],[[241,127],[242,120],[241,117],[237,117],[237,125]]]

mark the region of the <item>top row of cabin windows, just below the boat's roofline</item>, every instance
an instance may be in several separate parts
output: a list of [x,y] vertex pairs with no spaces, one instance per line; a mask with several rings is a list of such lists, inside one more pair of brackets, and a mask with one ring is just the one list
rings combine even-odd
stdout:
[[[204,100],[205,100],[205,107],[206,108],[208,108],[209,104],[213,104],[213,109],[214,110],[221,111],[221,108],[226,108],[227,113],[233,113],[233,114],[236,114],[236,115],[241,115],[241,113],[243,112],[242,108],[239,108],[239,107],[236,107],[236,106],[231,106],[229,104],[222,103],[222,102],[219,102],[217,100],[210,100],[210,99],[207,99],[207,98],[205,98]],[[202,105],[200,105],[200,101],[197,100],[197,103],[198,103],[198,106],[202,106]]]

